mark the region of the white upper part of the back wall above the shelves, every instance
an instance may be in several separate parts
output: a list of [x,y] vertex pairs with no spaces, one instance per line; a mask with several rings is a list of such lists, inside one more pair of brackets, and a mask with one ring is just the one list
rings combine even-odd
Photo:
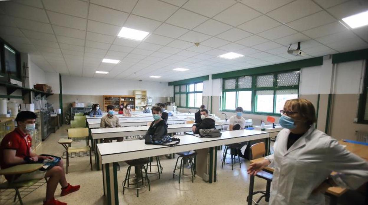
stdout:
[[167,83],[152,81],[61,76],[61,82],[63,95],[133,95],[134,90],[147,90],[149,97],[166,97],[171,92]]

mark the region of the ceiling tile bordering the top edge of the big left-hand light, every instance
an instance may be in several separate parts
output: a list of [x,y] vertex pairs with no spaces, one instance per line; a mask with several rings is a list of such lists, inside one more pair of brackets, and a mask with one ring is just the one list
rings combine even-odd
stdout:
[[153,32],[157,27],[159,27],[159,25],[161,25],[161,22],[159,21],[139,17],[133,14],[129,16],[127,22],[124,24],[125,27],[142,30],[145,32]]

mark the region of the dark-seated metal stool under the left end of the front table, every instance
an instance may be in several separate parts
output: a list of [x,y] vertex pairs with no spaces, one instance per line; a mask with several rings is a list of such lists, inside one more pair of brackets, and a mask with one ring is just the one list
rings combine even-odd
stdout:
[[[150,183],[150,180],[149,180],[148,175],[147,175],[146,167],[144,166],[145,164],[148,164],[149,161],[150,161],[149,158],[140,158],[140,159],[137,159],[137,160],[127,160],[127,161],[125,161],[129,166],[128,166],[128,169],[127,169],[127,174],[125,175],[125,179],[121,183],[121,185],[123,185],[123,194],[124,194],[125,188],[137,190],[137,197],[138,197],[139,189],[142,189],[142,188],[148,186],[148,191],[151,191],[151,183]],[[140,175],[141,180],[142,180],[142,186],[139,186],[140,179],[139,179],[139,177],[137,177],[138,178],[137,182],[136,182],[137,186],[135,188],[129,187],[129,180],[135,178],[135,177],[130,177],[130,169],[131,169],[132,166],[134,166],[134,167],[138,166],[138,169],[136,169],[136,170],[139,170],[140,173],[135,173],[135,175],[136,175],[136,177],[138,175]],[[144,169],[145,177],[143,177],[142,169]],[[144,184],[144,178],[147,180],[146,184]],[[126,186],[127,182],[128,182],[128,184]]]

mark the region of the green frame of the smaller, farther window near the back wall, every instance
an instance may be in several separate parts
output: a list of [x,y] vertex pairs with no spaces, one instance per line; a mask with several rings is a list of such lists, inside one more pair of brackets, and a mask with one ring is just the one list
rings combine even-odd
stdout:
[[[202,90],[197,90],[197,84],[202,84]],[[194,91],[190,91],[190,86],[194,86]],[[185,89],[183,89],[185,88]],[[195,102],[197,102],[197,95],[198,93],[203,93],[203,81],[195,82],[195,83],[189,83],[189,84],[181,84],[181,85],[174,85],[174,102],[177,107],[181,108],[199,108],[195,106]],[[190,94],[194,94],[194,106],[190,105]],[[203,97],[203,95],[202,95]],[[185,98],[185,99],[184,99]],[[202,101],[202,99],[201,99]],[[183,103],[185,102],[185,103]],[[183,105],[182,105],[183,104]],[[184,105],[185,104],[185,105]]]

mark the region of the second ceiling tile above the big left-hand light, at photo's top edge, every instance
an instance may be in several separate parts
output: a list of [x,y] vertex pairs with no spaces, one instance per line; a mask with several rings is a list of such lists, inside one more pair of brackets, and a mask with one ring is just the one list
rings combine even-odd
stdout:
[[132,11],[133,14],[165,21],[178,7],[157,0],[140,0]]

